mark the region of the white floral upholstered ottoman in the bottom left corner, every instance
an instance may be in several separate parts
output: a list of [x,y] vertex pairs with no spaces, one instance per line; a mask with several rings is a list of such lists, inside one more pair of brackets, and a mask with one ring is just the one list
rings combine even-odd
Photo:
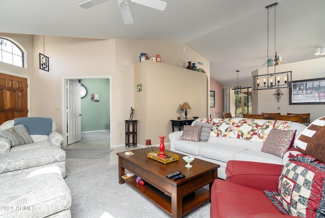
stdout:
[[[58,167],[0,177],[1,217],[45,217],[70,208],[71,193]],[[70,217],[70,213],[68,216]]]

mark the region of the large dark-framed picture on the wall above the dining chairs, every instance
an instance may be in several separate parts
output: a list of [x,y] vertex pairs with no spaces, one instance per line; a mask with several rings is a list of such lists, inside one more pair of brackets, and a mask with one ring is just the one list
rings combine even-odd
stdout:
[[293,81],[289,104],[325,104],[325,78]]

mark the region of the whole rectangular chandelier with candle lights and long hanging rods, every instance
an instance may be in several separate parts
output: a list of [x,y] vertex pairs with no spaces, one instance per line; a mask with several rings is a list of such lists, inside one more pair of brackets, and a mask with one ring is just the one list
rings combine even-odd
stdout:
[[[276,65],[280,64],[281,58],[276,53],[276,6],[274,3],[265,7],[268,10],[268,44],[267,44],[267,74],[254,76],[254,90],[289,88],[291,84],[291,71],[276,72]],[[269,58],[269,9],[274,7],[274,60]],[[273,67],[274,72],[269,74],[269,67]]]

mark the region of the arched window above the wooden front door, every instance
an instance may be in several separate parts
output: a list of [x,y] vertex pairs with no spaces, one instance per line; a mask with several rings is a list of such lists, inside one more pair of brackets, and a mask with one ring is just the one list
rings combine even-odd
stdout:
[[15,43],[0,38],[0,61],[24,67],[24,53]]

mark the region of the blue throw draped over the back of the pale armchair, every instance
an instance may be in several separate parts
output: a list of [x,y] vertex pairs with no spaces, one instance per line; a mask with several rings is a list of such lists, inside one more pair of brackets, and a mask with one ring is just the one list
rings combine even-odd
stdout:
[[15,126],[23,124],[30,135],[49,135],[52,132],[52,118],[22,117],[14,120]]

